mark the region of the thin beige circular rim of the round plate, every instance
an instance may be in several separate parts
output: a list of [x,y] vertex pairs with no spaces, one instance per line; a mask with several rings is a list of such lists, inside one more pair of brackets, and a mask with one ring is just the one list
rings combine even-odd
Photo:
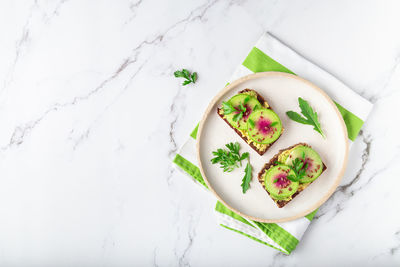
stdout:
[[[255,216],[251,216],[251,215],[247,215],[244,214],[241,211],[238,211],[237,209],[231,207],[228,203],[226,203],[218,194],[217,192],[212,188],[212,186],[210,185],[210,182],[208,181],[207,176],[204,173],[204,169],[203,169],[203,164],[201,162],[201,157],[200,157],[200,146],[201,146],[201,136],[202,136],[202,132],[203,132],[203,127],[204,127],[204,122],[206,121],[206,119],[208,118],[208,116],[210,115],[211,111],[212,111],[212,107],[215,105],[215,103],[228,91],[230,91],[233,87],[236,87],[237,85],[251,80],[251,79],[256,79],[259,77],[266,77],[266,76],[284,76],[290,79],[296,79],[299,80],[300,82],[306,83],[308,84],[310,87],[314,88],[317,92],[319,92],[323,97],[325,97],[328,100],[328,103],[330,103],[330,105],[333,107],[333,109],[335,110],[336,114],[338,115],[338,117],[340,118],[340,122],[341,122],[341,126],[342,126],[342,131],[344,133],[345,136],[345,155],[344,155],[344,161],[343,161],[343,165],[341,167],[341,170],[338,174],[338,176],[336,177],[333,185],[331,186],[331,188],[327,191],[327,193],[325,195],[323,195],[321,197],[321,199],[314,205],[312,205],[309,209],[307,209],[304,212],[298,213],[297,215],[293,215],[290,217],[286,217],[286,218],[281,218],[281,219],[263,219],[263,218],[258,218]],[[257,73],[252,73],[252,74],[248,74],[246,76],[243,76],[235,81],[233,81],[232,83],[230,83],[229,85],[227,85],[226,87],[224,87],[222,90],[220,90],[214,97],[213,99],[210,101],[210,103],[207,106],[207,109],[205,110],[200,123],[199,123],[199,128],[197,131],[197,138],[196,138],[196,156],[197,156],[197,161],[199,164],[199,169],[200,169],[200,173],[205,181],[205,183],[208,186],[208,189],[212,192],[212,194],[219,200],[221,201],[226,207],[228,207],[230,210],[234,211],[235,213],[239,214],[240,216],[246,218],[246,219],[250,219],[253,221],[258,221],[258,222],[264,222],[264,223],[279,223],[279,222],[287,222],[287,221],[292,221],[301,217],[305,217],[306,215],[310,214],[311,212],[313,212],[314,210],[318,209],[322,204],[324,204],[329,197],[335,192],[336,188],[339,186],[340,181],[343,178],[344,172],[346,170],[347,167],[347,163],[348,163],[348,154],[349,154],[349,141],[348,141],[348,135],[347,135],[347,128],[346,128],[346,124],[344,123],[343,117],[341,115],[341,113],[339,112],[338,108],[336,107],[335,103],[333,102],[333,100],[318,86],[316,86],[315,84],[313,84],[312,82],[299,77],[297,75],[294,74],[290,74],[290,73],[285,73],[285,72],[277,72],[277,71],[267,71],[267,72],[257,72]]]

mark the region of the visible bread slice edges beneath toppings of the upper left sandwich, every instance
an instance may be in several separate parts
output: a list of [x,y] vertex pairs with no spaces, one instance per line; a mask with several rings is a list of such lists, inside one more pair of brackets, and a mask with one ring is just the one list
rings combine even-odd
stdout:
[[[255,96],[257,97],[257,100],[261,103],[261,105],[263,106],[263,108],[265,109],[270,109],[273,111],[273,109],[271,108],[271,106],[268,104],[268,102],[256,91],[252,90],[252,89],[244,89],[242,91],[239,91],[238,94],[242,94],[242,93],[252,93],[255,94]],[[260,156],[264,155],[265,152],[267,152],[267,150],[276,142],[278,141],[278,139],[280,138],[280,136],[282,135],[284,128],[282,126],[282,131],[280,133],[280,136],[272,143],[270,144],[259,144],[254,142],[252,139],[250,139],[246,133],[242,130],[239,130],[235,127],[233,127],[226,118],[224,118],[224,112],[221,108],[217,108],[217,114],[218,116],[220,116],[228,125],[229,127],[231,127],[252,149],[254,149]]]

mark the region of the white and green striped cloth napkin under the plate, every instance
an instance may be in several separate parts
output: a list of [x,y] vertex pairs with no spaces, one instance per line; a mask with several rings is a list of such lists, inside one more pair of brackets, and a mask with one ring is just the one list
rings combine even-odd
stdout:
[[[234,81],[250,73],[264,71],[280,71],[296,74],[325,90],[336,103],[343,116],[350,139],[349,143],[351,144],[356,139],[371,111],[372,104],[353,92],[331,74],[309,62],[268,33],[264,34],[252,48],[230,81]],[[207,188],[196,166],[196,134],[197,127],[193,130],[178,154],[176,154],[174,163],[179,170],[182,170],[193,178],[194,181]],[[315,210],[304,218],[290,222],[261,223],[239,216],[220,202],[217,202],[215,211],[221,226],[286,254],[290,254],[296,248],[317,212]]]

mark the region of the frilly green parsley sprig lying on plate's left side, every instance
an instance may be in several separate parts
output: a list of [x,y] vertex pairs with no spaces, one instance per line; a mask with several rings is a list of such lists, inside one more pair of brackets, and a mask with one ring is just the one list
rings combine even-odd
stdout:
[[217,151],[212,152],[215,157],[211,159],[211,163],[219,163],[224,172],[231,172],[235,168],[242,166],[242,160],[248,158],[249,153],[246,152],[240,155],[240,145],[238,142],[229,143],[225,146],[228,150],[219,148]]

